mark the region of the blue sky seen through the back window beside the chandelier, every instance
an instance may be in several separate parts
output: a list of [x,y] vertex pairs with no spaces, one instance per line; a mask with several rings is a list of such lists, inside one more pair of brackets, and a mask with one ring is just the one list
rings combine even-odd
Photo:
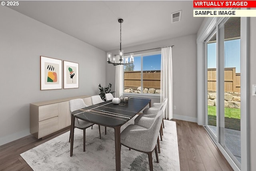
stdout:
[[[143,57],[143,71],[161,70],[161,54]],[[141,56],[134,57],[134,71],[141,71]]]

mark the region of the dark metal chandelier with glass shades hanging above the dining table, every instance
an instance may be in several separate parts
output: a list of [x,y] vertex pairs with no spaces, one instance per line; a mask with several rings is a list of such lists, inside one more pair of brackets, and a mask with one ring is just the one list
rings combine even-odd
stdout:
[[[124,51],[121,48],[121,33],[122,33],[122,22],[124,22],[123,19],[118,19],[118,22],[120,23],[120,50],[118,55],[112,56],[111,52],[107,53],[107,62],[108,64],[113,64],[114,66],[116,65],[128,65],[128,64],[133,64],[134,58],[133,58],[133,53],[130,53],[130,57],[126,57],[124,59]],[[130,60],[129,60],[130,59]]]

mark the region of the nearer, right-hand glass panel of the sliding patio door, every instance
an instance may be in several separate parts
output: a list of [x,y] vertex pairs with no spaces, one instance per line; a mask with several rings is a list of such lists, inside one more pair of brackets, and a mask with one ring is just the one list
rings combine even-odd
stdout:
[[240,18],[224,20],[219,33],[220,144],[240,165]]

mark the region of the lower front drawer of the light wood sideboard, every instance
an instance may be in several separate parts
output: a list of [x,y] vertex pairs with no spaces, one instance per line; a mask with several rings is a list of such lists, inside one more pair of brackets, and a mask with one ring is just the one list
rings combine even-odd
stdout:
[[58,130],[58,117],[53,117],[39,122],[38,138]]

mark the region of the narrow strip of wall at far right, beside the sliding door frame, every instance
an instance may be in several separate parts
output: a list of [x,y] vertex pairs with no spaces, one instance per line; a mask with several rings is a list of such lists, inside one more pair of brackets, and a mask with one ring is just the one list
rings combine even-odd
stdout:
[[[251,171],[256,170],[256,97],[252,97],[252,84],[256,84],[256,18],[250,18],[250,164]],[[242,114],[242,113],[241,113]]]

